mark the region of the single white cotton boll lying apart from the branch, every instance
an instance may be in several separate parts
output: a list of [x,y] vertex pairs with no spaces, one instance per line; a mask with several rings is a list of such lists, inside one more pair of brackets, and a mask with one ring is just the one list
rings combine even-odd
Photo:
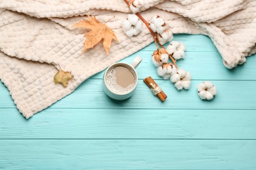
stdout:
[[217,94],[217,88],[209,81],[201,82],[197,89],[200,99],[211,100]]

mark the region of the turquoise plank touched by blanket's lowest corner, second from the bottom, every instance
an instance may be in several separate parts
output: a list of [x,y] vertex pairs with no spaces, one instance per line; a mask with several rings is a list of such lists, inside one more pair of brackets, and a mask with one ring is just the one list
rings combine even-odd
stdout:
[[256,139],[255,110],[0,109],[0,139]]

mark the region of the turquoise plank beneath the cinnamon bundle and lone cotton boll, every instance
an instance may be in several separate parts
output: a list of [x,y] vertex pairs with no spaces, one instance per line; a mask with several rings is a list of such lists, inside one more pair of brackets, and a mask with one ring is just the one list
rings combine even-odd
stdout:
[[[203,101],[198,97],[196,86],[202,82],[192,80],[189,90],[178,91],[169,80],[156,81],[167,94],[162,103],[154,96],[148,86],[139,80],[137,92],[125,101],[110,99],[102,90],[102,80],[89,79],[79,86],[72,95],[54,103],[51,108],[98,108],[98,109],[256,109],[256,81],[218,81],[213,84],[218,93],[212,101]],[[4,95],[3,95],[4,96]],[[14,108],[15,105],[5,97],[0,108]],[[5,101],[7,99],[7,101]]]

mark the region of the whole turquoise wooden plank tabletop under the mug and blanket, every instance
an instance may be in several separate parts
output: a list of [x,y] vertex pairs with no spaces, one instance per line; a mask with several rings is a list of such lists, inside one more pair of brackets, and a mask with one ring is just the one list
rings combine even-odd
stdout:
[[[256,169],[256,56],[229,70],[209,37],[174,40],[186,45],[177,64],[192,75],[189,90],[157,75],[154,43],[123,59],[143,58],[126,101],[103,92],[101,72],[26,120],[0,83],[0,169]],[[163,103],[147,76],[167,94]],[[217,86],[212,101],[198,97],[205,80]]]

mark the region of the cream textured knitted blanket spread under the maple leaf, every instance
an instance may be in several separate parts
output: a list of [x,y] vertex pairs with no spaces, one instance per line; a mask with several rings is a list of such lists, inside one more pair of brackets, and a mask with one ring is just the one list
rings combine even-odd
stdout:
[[[229,69],[256,52],[256,1],[145,0],[140,14],[150,22],[159,15],[173,33],[208,35]],[[129,38],[121,29],[131,13],[122,0],[0,0],[0,79],[18,110],[30,118],[73,92],[108,65],[154,41],[150,31]],[[107,22],[119,42],[106,55],[102,43],[81,54],[84,33],[71,26],[96,16]],[[113,18],[115,16],[115,18]],[[61,65],[74,78],[68,88],[53,82]]]

